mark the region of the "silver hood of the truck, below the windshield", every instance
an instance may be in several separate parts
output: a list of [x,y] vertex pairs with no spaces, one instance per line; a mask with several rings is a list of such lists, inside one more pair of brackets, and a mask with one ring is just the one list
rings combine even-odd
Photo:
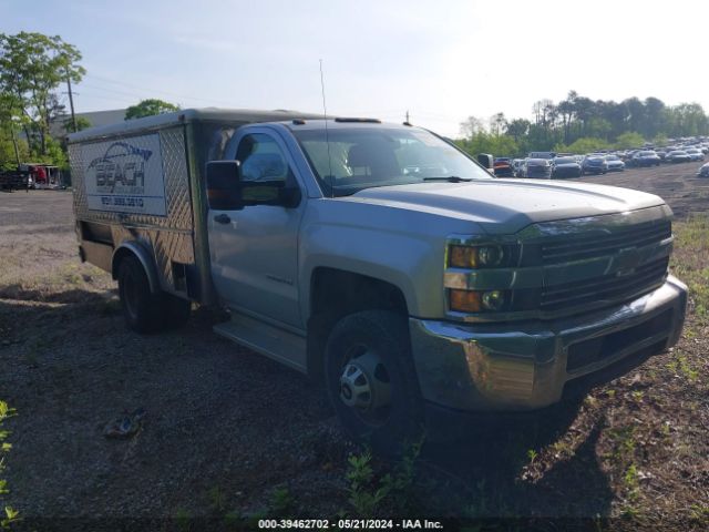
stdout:
[[373,187],[341,200],[470,221],[490,234],[512,234],[538,222],[623,213],[665,203],[653,194],[615,186],[499,178]]

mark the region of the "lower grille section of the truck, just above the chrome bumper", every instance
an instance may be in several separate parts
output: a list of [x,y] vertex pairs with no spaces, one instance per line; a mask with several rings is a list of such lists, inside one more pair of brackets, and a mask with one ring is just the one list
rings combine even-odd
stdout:
[[627,275],[614,273],[545,287],[540,308],[545,311],[563,310],[602,300],[621,301],[647,293],[665,282],[668,263],[669,257],[664,257]]

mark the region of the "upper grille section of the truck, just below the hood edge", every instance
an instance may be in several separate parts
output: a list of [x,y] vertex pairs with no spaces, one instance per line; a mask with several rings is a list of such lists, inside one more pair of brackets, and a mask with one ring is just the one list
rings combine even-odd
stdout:
[[613,233],[575,235],[573,238],[565,236],[563,239],[542,244],[542,258],[544,264],[569,263],[612,255],[626,247],[656,244],[670,236],[672,236],[672,227],[669,221],[639,224]]

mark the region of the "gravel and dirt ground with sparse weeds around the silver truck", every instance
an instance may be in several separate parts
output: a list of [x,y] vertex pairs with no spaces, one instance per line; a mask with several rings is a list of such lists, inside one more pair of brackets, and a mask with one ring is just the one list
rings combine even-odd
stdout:
[[[709,206],[697,166],[584,180],[657,193],[682,218]],[[709,525],[702,327],[543,420],[430,446],[404,505],[429,515],[583,518],[596,530],[605,518],[626,520],[613,528]],[[203,309],[179,331],[127,331],[110,276],[79,262],[70,192],[0,194],[0,399],[18,411],[6,423],[11,492],[2,502],[27,522],[167,523],[276,507],[309,518],[353,513],[347,457],[359,451],[321,390],[213,334]],[[104,437],[138,408],[137,434]],[[389,467],[376,462],[382,474]]]

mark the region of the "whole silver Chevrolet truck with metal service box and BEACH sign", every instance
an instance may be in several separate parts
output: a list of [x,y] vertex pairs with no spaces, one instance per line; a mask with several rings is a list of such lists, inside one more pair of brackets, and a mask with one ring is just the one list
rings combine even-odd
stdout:
[[411,125],[187,110],[70,136],[80,255],[129,327],[216,332],[322,381],[378,447],[518,411],[677,342],[671,212],[641,192],[494,178]]

